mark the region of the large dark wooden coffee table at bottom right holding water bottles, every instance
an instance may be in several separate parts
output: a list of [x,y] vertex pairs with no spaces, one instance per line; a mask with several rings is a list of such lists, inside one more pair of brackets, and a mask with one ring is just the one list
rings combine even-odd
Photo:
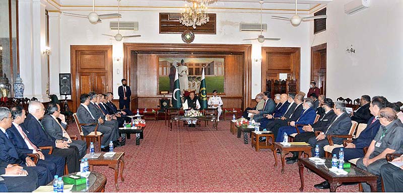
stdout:
[[[369,173],[363,169],[360,169],[354,165],[351,165],[350,171],[347,175],[336,175],[333,172],[329,171],[331,167],[331,158],[322,158],[326,159],[325,164],[317,165],[314,162],[310,161],[309,158],[300,158],[298,161],[299,167],[299,176],[301,179],[301,187],[300,191],[304,190],[304,167],[312,170],[320,177],[326,179],[330,184],[330,191],[335,192],[336,188],[342,185],[343,182],[367,182],[371,186],[371,191],[376,191],[376,179],[378,176]],[[347,170],[347,169],[346,169]],[[347,170],[348,171],[348,170]]]

